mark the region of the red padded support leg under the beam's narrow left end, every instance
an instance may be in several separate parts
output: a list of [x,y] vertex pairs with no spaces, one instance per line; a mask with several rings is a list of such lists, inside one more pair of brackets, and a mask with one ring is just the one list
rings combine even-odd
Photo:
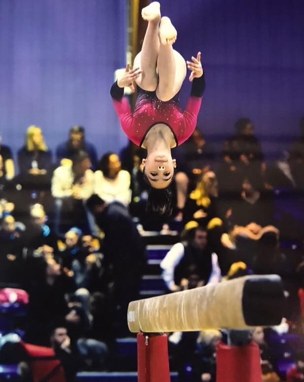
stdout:
[[137,334],[138,382],[170,382],[166,334]]

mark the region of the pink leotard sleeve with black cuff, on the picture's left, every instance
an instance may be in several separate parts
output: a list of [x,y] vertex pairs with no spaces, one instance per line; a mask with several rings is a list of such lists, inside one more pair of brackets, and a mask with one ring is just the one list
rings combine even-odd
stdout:
[[120,120],[120,124],[124,132],[129,136],[129,128],[132,122],[133,115],[131,107],[126,97],[124,97],[124,88],[117,85],[115,81],[111,87],[110,94],[113,100],[113,105],[116,114]]

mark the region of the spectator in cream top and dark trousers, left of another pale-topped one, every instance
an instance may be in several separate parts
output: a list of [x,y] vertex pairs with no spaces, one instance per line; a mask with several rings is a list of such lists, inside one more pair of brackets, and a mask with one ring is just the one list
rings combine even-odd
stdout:
[[62,165],[54,171],[52,195],[55,198],[55,233],[61,235],[72,226],[91,233],[90,218],[84,206],[94,191],[94,173],[90,169],[88,153],[80,151],[72,164]]

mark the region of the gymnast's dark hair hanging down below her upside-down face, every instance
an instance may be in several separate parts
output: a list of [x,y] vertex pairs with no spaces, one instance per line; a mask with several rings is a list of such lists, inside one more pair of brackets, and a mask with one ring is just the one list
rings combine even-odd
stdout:
[[171,191],[169,187],[165,189],[155,189],[151,187],[148,177],[143,169],[143,179],[150,186],[146,211],[157,215],[170,216],[172,214]]

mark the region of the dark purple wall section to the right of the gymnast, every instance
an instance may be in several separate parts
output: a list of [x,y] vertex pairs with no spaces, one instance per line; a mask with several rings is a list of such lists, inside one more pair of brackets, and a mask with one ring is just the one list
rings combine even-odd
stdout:
[[[213,142],[249,116],[270,157],[304,115],[303,0],[163,0],[188,59],[202,51],[206,91],[198,125]],[[182,98],[189,94],[184,82]]]

